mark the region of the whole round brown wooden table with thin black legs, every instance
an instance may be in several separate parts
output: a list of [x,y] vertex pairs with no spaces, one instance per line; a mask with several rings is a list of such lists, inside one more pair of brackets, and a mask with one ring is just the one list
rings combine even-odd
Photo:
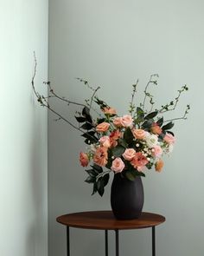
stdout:
[[112,211],[94,211],[69,213],[56,219],[67,226],[67,256],[70,256],[69,227],[105,230],[105,256],[108,256],[108,230],[115,231],[116,256],[119,256],[119,230],[152,228],[152,256],[156,256],[155,226],[163,223],[165,218],[155,213],[142,213],[139,219],[116,220]]

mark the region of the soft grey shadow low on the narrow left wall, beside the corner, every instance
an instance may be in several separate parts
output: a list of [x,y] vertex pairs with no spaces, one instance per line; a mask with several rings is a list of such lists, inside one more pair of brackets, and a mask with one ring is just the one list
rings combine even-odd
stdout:
[[[30,143],[30,200],[33,209],[27,235],[26,255],[48,255],[48,141],[47,116],[34,108]],[[40,109],[41,110],[41,109]],[[41,115],[42,114],[42,115]]]

